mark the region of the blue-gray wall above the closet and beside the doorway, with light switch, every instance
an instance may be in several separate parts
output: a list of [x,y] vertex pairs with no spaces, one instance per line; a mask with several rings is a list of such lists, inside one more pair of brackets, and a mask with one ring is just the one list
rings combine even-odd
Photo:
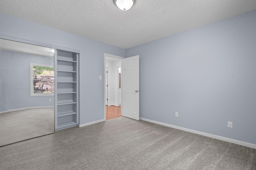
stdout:
[[79,50],[80,124],[104,119],[104,78],[99,80],[104,75],[104,53],[124,57],[124,49],[5,14],[0,14],[0,25],[0,37]]

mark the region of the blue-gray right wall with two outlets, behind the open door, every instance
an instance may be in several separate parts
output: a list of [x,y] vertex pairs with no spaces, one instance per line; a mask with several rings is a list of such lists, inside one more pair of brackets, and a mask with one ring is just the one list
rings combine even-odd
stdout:
[[126,49],[134,55],[140,117],[256,144],[256,10]]

